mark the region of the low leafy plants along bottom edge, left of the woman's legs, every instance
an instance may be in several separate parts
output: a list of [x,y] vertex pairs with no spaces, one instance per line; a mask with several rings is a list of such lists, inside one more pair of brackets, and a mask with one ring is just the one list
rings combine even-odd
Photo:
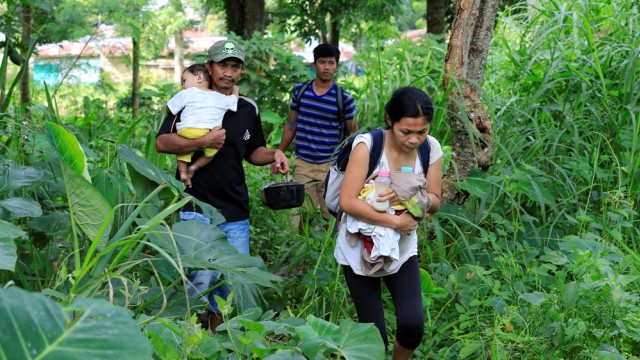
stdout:
[[[215,337],[194,331],[190,322],[162,318],[150,321],[145,332],[161,359],[383,359],[384,353],[373,324],[343,320],[338,326],[314,316],[278,320],[273,311],[258,308],[225,321]],[[185,338],[188,340],[180,341]]]

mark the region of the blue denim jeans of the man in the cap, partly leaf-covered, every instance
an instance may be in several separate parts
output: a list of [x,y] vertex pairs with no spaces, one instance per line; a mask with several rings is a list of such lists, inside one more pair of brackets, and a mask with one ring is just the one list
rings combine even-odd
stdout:
[[[211,223],[211,219],[193,211],[181,211],[180,220],[196,220],[205,224]],[[218,227],[227,235],[227,242],[231,246],[235,247],[239,253],[249,255],[249,220],[225,222]],[[207,289],[216,286],[218,282],[223,282],[206,294],[209,303],[207,310],[220,314],[215,296],[217,295],[226,300],[231,294],[231,287],[224,282],[224,274],[218,270],[196,270],[187,275],[187,280],[187,293],[192,297],[204,295]]]

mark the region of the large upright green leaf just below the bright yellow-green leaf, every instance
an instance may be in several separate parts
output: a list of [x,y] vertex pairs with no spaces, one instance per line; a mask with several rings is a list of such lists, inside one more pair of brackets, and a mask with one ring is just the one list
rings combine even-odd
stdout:
[[113,222],[110,216],[111,206],[91,183],[72,171],[65,162],[61,165],[72,220],[91,241],[98,240],[100,228],[105,221],[108,222],[99,239],[99,247],[103,248],[109,239]]

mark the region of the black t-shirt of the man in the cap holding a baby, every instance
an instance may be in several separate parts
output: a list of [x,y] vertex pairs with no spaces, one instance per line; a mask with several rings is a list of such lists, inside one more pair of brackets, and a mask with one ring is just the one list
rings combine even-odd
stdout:
[[[172,114],[164,119],[158,136],[176,132],[180,116]],[[249,190],[245,182],[242,160],[261,146],[266,146],[258,106],[253,100],[240,97],[237,111],[227,111],[222,120],[226,130],[225,142],[211,162],[196,171],[186,192],[217,208],[227,221],[249,218]],[[196,152],[195,160],[202,152]],[[176,169],[176,178],[179,179]]]

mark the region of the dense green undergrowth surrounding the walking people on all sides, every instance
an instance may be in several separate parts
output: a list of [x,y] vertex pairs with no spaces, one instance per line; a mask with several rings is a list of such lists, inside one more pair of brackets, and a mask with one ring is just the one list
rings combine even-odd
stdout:
[[[493,166],[459,184],[463,205],[421,226],[427,316],[415,358],[638,359],[638,6],[550,1],[499,15],[483,86]],[[365,128],[382,124],[393,89],[424,88],[455,166],[439,40],[372,33],[355,59],[365,75],[338,81]],[[251,40],[241,84],[271,146],[288,91],[309,76],[282,41]],[[254,71],[271,58],[283,60]],[[173,157],[154,150],[176,89],[146,85],[139,118],[106,83],[38,87],[28,108],[15,94],[0,108],[0,359],[388,357],[375,328],[354,322],[330,232],[312,223],[298,235],[291,211],[261,204],[276,180],[267,167],[246,166],[252,256],[213,225],[176,221],[188,199]],[[235,285],[216,336],[196,322],[204,304],[185,295],[186,268]]]

